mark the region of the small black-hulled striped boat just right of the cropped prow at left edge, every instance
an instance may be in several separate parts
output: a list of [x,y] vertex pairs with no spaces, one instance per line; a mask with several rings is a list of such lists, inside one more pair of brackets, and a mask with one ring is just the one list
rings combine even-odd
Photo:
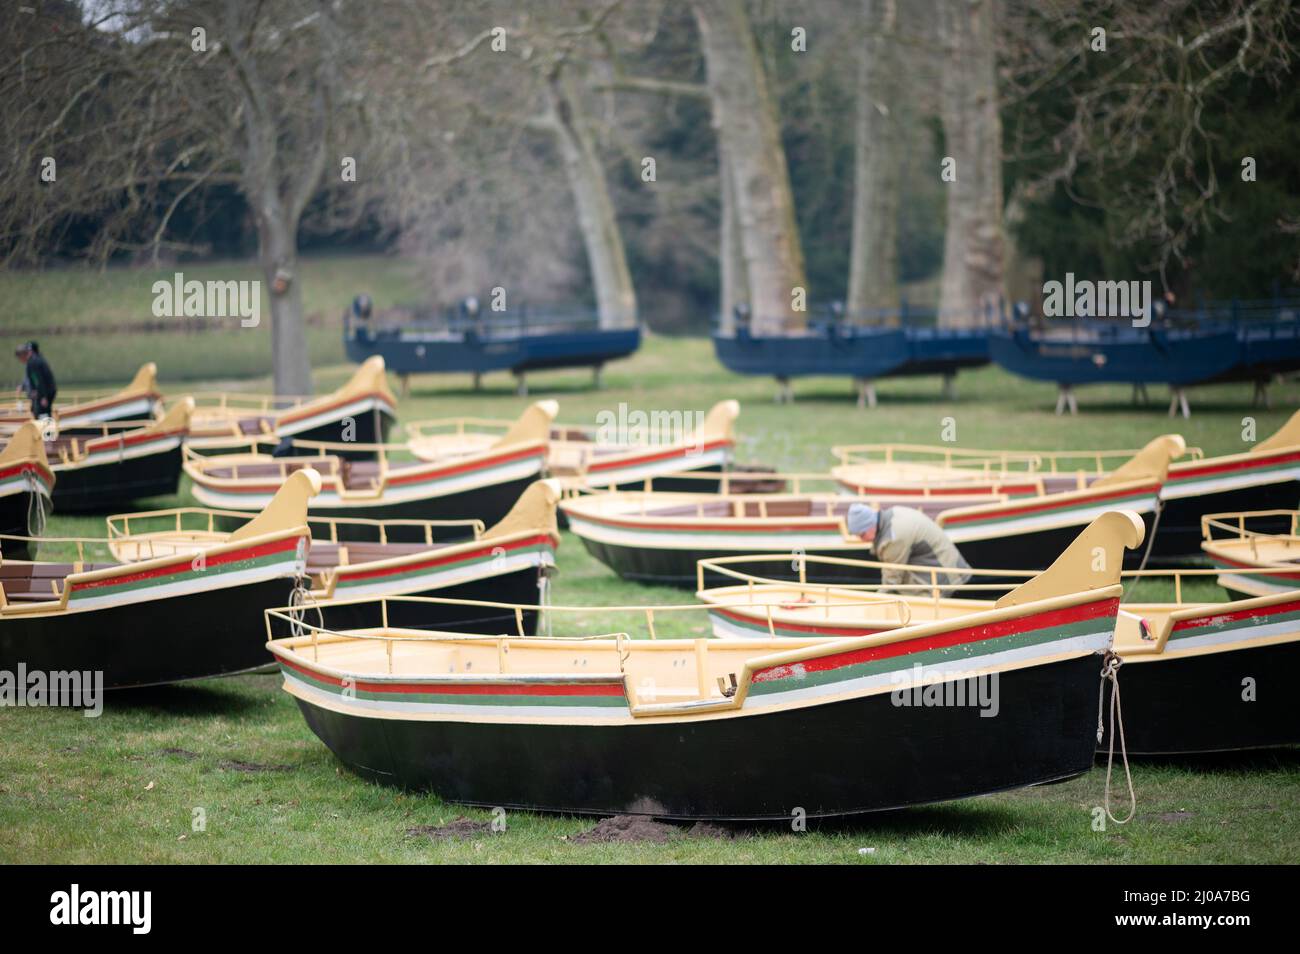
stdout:
[[194,399],[185,398],[146,425],[99,424],[46,441],[60,513],[104,512],[133,500],[174,494],[181,482],[181,445]]

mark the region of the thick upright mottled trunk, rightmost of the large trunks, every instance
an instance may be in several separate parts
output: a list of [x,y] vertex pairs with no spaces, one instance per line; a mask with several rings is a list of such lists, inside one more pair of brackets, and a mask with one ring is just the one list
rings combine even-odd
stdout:
[[944,95],[940,116],[956,181],[948,187],[948,230],[940,321],[978,324],[1002,296],[1002,123],[998,117],[994,0],[940,0]]

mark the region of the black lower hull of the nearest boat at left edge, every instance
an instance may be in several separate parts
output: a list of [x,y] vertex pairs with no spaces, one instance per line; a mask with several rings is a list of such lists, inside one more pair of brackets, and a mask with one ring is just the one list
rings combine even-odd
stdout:
[[273,662],[263,610],[285,606],[294,581],[264,580],[84,612],[10,616],[0,669],[101,671],[104,689],[183,682]]

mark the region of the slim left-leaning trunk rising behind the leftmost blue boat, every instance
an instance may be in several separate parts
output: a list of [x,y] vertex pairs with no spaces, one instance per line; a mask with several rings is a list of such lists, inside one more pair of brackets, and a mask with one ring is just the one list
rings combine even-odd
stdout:
[[547,91],[564,173],[577,205],[601,328],[632,328],[637,324],[637,292],[606,188],[604,168],[582,121],[581,101],[563,70],[547,79]]

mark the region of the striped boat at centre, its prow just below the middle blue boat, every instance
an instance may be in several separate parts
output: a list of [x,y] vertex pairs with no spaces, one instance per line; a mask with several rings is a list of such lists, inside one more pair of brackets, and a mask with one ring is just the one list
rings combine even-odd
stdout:
[[[547,402],[552,415],[559,406]],[[723,400],[705,415],[698,429],[681,434],[677,441],[649,445],[602,439],[595,428],[552,425],[547,469],[567,490],[632,487],[654,480],[662,490],[675,487],[670,474],[723,471],[732,463],[736,447],[734,422],[740,404]],[[500,432],[514,421],[454,417],[403,424],[410,435],[407,446],[421,460],[446,460],[448,456],[484,450],[500,439]],[[667,481],[667,483],[666,483]],[[707,490],[707,487],[699,487]]]

